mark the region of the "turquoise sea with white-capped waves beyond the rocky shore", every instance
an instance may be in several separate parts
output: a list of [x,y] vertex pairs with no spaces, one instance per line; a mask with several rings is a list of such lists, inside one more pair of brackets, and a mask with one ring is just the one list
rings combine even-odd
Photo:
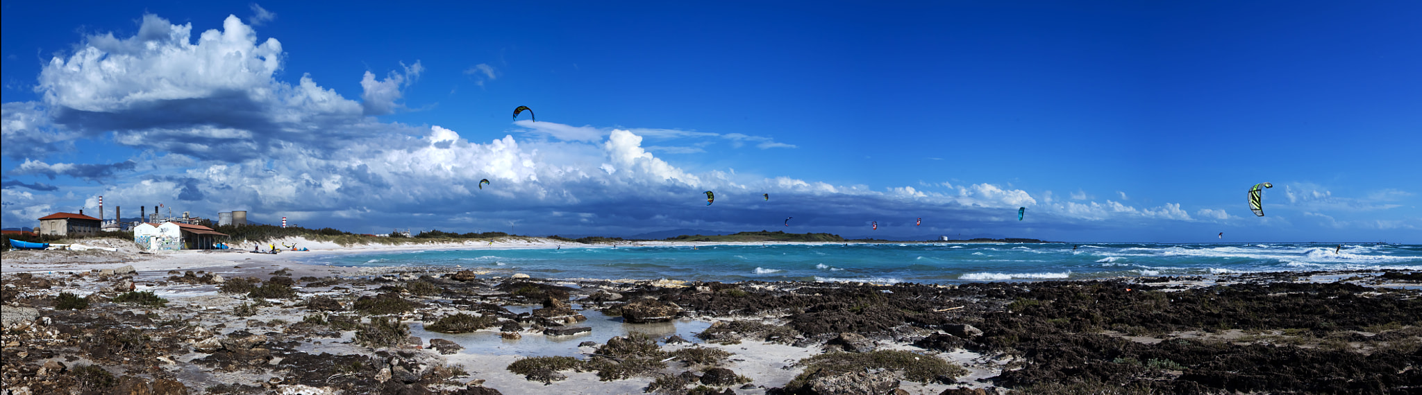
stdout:
[[1416,244],[766,244],[427,250],[320,256],[311,264],[444,266],[545,278],[967,283],[1254,271],[1422,270]]

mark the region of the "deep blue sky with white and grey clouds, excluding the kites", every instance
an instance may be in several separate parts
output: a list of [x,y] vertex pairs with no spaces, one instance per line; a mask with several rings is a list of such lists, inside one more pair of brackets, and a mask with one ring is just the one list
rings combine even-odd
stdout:
[[104,195],[371,233],[1422,243],[1408,1],[0,14],[4,227]]

